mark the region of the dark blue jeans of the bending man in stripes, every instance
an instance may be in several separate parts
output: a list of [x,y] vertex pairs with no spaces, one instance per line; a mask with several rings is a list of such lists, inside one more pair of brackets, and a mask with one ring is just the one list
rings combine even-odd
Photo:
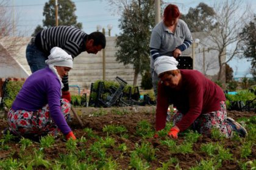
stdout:
[[27,45],[26,58],[31,72],[34,73],[35,71],[46,67],[45,60],[48,56],[41,52],[41,50],[35,46],[34,41],[31,40]]

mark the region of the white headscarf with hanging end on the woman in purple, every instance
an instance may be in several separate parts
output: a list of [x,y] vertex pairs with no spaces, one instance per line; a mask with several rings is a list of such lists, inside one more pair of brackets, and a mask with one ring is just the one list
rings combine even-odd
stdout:
[[73,58],[71,55],[65,52],[65,50],[59,47],[53,47],[51,49],[51,54],[48,56],[48,60],[45,61],[49,68],[57,75],[60,80],[61,89],[64,87],[62,83],[62,78],[60,78],[59,73],[54,66],[63,66],[73,68]]

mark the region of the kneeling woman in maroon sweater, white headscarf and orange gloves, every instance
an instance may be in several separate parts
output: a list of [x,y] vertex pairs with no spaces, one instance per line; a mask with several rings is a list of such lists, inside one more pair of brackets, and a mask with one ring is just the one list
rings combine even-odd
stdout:
[[158,83],[156,130],[165,128],[166,111],[169,104],[176,107],[172,127],[168,135],[177,138],[179,132],[188,127],[204,135],[210,135],[213,128],[226,137],[232,131],[246,137],[241,124],[227,118],[226,97],[223,90],[197,70],[179,70],[178,62],[172,56],[160,56],[155,61]]

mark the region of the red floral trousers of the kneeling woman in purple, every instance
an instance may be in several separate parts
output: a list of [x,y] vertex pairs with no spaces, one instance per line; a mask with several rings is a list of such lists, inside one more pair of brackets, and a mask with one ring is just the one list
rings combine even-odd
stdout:
[[[60,99],[60,109],[65,119],[69,117],[71,105],[65,98]],[[13,110],[8,112],[8,123],[13,134],[23,137],[57,135],[59,129],[49,114],[49,106],[36,111]]]

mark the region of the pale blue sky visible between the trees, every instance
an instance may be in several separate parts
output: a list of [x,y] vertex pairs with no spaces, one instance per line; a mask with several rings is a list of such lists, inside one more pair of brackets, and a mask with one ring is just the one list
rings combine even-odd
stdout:
[[[43,7],[49,0],[10,0],[10,10],[13,10],[13,21],[16,26],[16,33],[24,36],[30,36],[38,24],[42,25]],[[116,0],[118,1],[118,0]],[[222,0],[204,0],[205,4],[212,6],[214,1]],[[101,25],[107,30],[107,25],[113,26],[111,35],[119,35],[121,32],[118,28],[119,13],[110,7],[107,0],[73,0],[76,5],[77,22],[82,22],[83,30],[86,33],[96,31],[97,25]],[[196,7],[202,0],[165,0],[164,2],[178,5],[180,12],[186,14],[190,7]],[[243,0],[251,4],[252,9],[256,9],[255,0]],[[230,66],[234,71],[234,77],[250,77],[248,70],[251,64],[246,60],[233,59]]]

